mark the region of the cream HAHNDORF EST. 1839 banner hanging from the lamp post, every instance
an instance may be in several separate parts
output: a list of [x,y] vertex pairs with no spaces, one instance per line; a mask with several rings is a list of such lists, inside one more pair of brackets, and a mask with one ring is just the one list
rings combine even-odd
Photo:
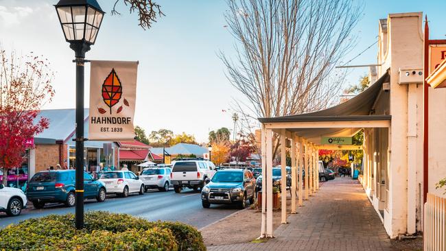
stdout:
[[91,61],[89,140],[134,139],[137,70],[138,62]]

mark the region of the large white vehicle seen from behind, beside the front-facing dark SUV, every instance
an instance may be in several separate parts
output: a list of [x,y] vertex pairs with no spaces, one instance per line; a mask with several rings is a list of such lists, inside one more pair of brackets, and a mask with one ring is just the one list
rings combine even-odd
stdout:
[[180,193],[184,187],[198,190],[204,187],[204,180],[211,179],[215,174],[215,165],[209,160],[189,158],[177,160],[172,167],[170,180],[174,185],[175,193]]

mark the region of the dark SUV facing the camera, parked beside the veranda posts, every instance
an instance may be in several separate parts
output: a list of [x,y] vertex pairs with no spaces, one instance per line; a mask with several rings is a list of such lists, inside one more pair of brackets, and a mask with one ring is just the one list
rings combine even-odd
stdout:
[[206,182],[207,185],[201,191],[204,208],[209,208],[211,204],[233,203],[239,208],[245,208],[246,200],[249,200],[250,204],[254,202],[255,178],[249,170],[220,170]]

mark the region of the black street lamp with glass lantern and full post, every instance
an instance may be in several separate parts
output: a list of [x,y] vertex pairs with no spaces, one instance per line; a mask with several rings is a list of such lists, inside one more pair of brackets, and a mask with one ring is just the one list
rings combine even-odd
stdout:
[[76,207],[75,226],[84,228],[84,60],[94,45],[104,12],[96,0],[60,0],[56,5],[65,40],[75,53],[76,63]]

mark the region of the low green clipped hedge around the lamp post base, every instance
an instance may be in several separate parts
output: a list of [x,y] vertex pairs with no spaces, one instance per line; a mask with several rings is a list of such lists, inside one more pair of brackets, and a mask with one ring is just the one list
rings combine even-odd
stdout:
[[125,214],[85,214],[76,230],[74,215],[27,219],[0,230],[0,250],[206,250],[196,228],[179,222],[149,222]]

